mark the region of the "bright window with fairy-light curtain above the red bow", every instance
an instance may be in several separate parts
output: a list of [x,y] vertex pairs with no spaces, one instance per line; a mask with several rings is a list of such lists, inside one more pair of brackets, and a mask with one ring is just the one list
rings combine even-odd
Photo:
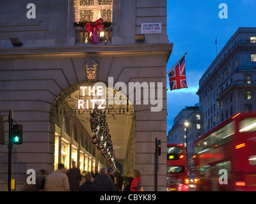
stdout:
[[112,0],[76,0],[76,22],[96,21],[100,17],[112,22]]

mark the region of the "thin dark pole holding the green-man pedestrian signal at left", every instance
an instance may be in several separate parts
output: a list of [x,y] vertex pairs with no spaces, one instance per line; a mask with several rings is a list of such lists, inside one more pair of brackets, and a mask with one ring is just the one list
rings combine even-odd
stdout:
[[8,143],[8,191],[11,191],[12,181],[12,126],[13,126],[13,112],[9,111],[9,143]]

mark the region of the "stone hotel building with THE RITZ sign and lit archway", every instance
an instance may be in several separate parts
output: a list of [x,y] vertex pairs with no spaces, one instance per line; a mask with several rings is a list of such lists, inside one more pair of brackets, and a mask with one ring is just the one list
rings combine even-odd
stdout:
[[[152,112],[156,104],[126,98],[123,106],[104,106],[104,114],[116,166],[124,175],[134,168],[140,170],[144,191],[154,191],[155,138],[161,140],[157,186],[166,191],[166,63],[173,47],[166,34],[166,0],[35,0],[35,17],[28,1],[0,4],[0,115],[8,119],[13,110],[13,120],[23,126],[23,143],[12,149],[15,191],[26,184],[28,169],[51,173],[58,163],[70,168],[73,160],[81,171],[108,167],[91,142],[89,120],[95,107],[80,104],[87,112],[76,107],[79,87],[91,89],[96,82],[117,84],[107,87],[114,96],[129,82],[161,82],[155,93],[157,89],[162,93],[161,109]],[[86,33],[78,22],[97,22],[100,17],[104,28],[94,33],[98,42],[92,41],[92,33]],[[157,31],[141,29],[148,25],[158,25]],[[93,80],[86,75],[90,66]],[[7,189],[7,145],[5,122],[1,191]]]

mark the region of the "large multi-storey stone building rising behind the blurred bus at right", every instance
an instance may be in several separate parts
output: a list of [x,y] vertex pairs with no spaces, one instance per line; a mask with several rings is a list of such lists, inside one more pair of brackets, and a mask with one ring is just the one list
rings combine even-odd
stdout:
[[256,110],[256,28],[239,27],[199,81],[204,130]]

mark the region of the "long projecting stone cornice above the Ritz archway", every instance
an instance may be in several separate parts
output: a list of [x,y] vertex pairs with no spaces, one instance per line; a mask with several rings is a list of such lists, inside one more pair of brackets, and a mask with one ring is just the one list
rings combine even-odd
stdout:
[[13,47],[1,48],[0,59],[12,58],[67,58],[67,57],[129,57],[166,55],[172,53],[173,43],[144,45],[108,45],[73,47]]

